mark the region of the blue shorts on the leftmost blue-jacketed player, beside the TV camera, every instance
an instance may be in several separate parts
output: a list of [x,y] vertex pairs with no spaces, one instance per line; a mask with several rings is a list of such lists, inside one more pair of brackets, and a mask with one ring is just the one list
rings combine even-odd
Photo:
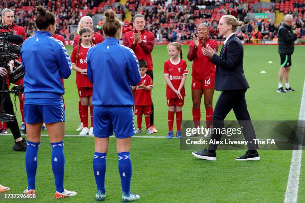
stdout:
[[63,122],[66,119],[62,100],[52,105],[24,103],[23,112],[24,121],[29,124]]

